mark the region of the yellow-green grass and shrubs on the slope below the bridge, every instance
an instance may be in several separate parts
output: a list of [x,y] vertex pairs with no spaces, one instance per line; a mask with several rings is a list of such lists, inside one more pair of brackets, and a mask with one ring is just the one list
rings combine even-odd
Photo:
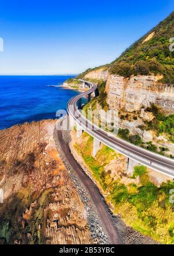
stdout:
[[[92,137],[84,133],[75,149],[106,194],[108,204],[113,205],[114,212],[119,213],[127,225],[160,243],[174,243],[174,212],[169,201],[169,191],[174,188],[174,183],[168,181],[157,187],[151,183],[147,168],[136,166],[132,183],[124,184],[121,178],[114,178],[111,170],[105,170],[111,161],[117,162],[121,156],[103,146],[93,158],[92,143]],[[136,182],[137,177],[140,183]]]

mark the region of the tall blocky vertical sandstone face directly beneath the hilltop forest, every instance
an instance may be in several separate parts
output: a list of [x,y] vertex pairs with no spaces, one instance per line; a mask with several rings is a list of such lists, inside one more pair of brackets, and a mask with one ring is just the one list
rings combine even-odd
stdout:
[[174,86],[158,82],[161,76],[131,76],[124,78],[108,75],[107,103],[110,109],[132,112],[148,107],[151,103],[162,108],[166,114],[174,113]]

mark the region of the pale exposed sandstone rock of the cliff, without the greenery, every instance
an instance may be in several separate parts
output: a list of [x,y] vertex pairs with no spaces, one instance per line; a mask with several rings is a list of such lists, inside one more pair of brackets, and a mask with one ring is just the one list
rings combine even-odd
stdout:
[[[106,81],[106,103],[110,110],[118,111],[118,127],[129,129],[132,135],[139,135],[143,142],[152,142],[157,148],[166,148],[168,156],[174,156],[174,143],[168,134],[144,129],[144,122],[150,122],[154,116],[146,110],[151,104],[157,106],[166,116],[174,114],[174,86],[160,82],[161,75],[137,75],[130,78],[111,75],[103,68],[95,69],[84,77],[97,83]],[[100,78],[100,79],[99,79]],[[89,103],[89,107],[93,103]],[[88,105],[85,108],[88,108]],[[95,108],[99,108],[95,101]],[[122,117],[124,118],[120,118]],[[129,115],[129,118],[125,118]],[[136,118],[135,120],[133,118]]]

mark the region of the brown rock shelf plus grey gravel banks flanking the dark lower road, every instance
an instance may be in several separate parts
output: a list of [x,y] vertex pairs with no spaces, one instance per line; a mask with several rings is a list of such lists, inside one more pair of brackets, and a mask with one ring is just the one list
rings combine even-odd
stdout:
[[[14,243],[39,242],[39,237],[36,237],[35,231],[32,230],[34,227],[44,236],[45,234],[49,235],[49,241],[43,240],[42,243],[61,242],[66,244],[71,240],[71,243],[80,244],[88,243],[90,240],[92,244],[110,244],[105,226],[100,219],[101,215],[97,212],[97,208],[88,194],[88,189],[85,188],[75,170],[67,162],[67,157],[61,149],[55,124],[56,120],[42,120],[32,124],[16,125],[1,131],[3,153],[0,174],[1,187],[5,191],[3,210],[8,213],[10,221],[16,225],[16,229],[10,227],[12,239],[9,240],[7,237],[7,243],[9,241],[13,243],[14,235],[17,238]],[[69,145],[70,131],[63,131],[62,134],[64,141]],[[10,144],[8,143],[9,138],[12,139]],[[77,157],[75,159],[78,162]],[[79,167],[82,167],[82,171],[88,176],[81,164]],[[97,185],[93,180],[92,182],[99,197],[106,205],[122,244],[156,243],[150,237],[143,236],[126,226],[121,216],[115,216],[106,204]],[[27,184],[30,184],[30,187]],[[28,199],[28,193],[32,195],[32,198]],[[26,199],[24,202],[20,202],[19,209],[13,216],[10,209],[17,204],[16,194]],[[13,197],[15,201],[9,203],[8,198]],[[40,205],[41,198],[42,204]],[[42,211],[44,211],[44,221],[41,218]],[[49,213],[49,218],[46,217],[46,212]],[[54,219],[50,212],[59,213],[60,218]],[[3,230],[3,226],[9,222],[4,218],[3,211],[1,213]],[[39,219],[35,219],[38,214]],[[23,239],[25,229],[28,236],[30,235],[30,239]],[[5,239],[6,234],[1,234],[1,237]]]

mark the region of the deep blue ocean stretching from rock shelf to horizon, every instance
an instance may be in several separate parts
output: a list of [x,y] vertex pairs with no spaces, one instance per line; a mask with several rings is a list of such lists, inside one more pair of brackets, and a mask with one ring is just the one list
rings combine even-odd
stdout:
[[67,101],[79,94],[60,87],[70,77],[0,76],[0,129],[56,118],[56,111],[66,110]]

